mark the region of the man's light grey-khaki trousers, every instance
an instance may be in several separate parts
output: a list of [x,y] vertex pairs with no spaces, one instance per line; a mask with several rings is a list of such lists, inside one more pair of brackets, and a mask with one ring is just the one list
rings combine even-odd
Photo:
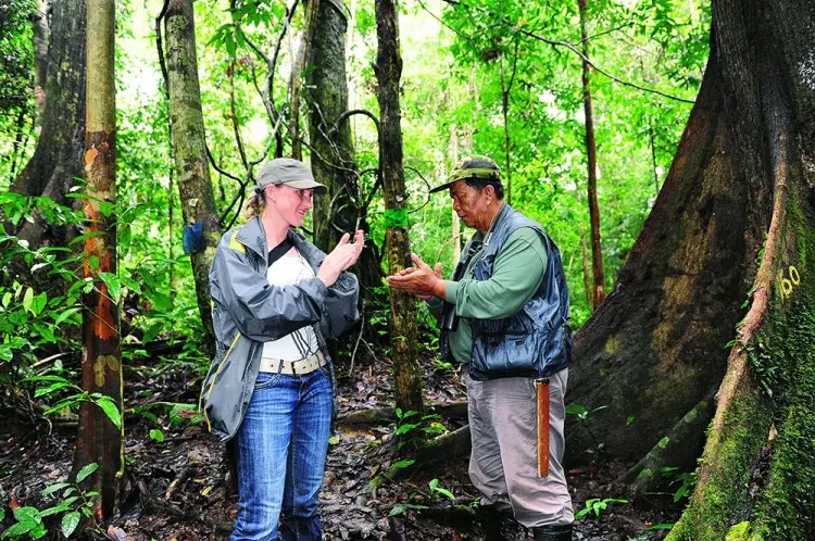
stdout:
[[511,506],[528,528],[574,520],[563,471],[568,368],[550,378],[549,476],[538,477],[537,400],[531,378],[475,381],[463,369],[473,440],[469,479],[482,505]]

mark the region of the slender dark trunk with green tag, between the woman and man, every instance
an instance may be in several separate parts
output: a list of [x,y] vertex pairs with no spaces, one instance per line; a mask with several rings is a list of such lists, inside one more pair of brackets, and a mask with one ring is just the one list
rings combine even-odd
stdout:
[[[385,234],[388,272],[397,274],[411,266],[411,241],[408,237],[408,198],[402,164],[399,79],[402,58],[399,53],[399,18],[396,0],[376,0],[376,36],[379,43],[374,71],[379,83],[377,99],[381,125],[379,166],[385,190]],[[422,370],[416,358],[416,301],[404,291],[389,288],[391,313],[391,356],[397,407],[424,410]]]

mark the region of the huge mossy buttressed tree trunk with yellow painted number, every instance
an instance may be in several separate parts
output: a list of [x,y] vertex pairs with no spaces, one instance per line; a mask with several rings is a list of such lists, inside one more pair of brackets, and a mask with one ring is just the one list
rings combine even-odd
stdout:
[[692,467],[701,443],[668,435],[687,433],[695,411],[701,442],[716,392],[672,539],[724,539],[734,525],[738,539],[815,534],[813,27],[806,0],[713,1],[711,56],[672,168],[575,342],[568,400],[609,407],[568,428],[572,462],[598,443],[637,460],[659,442],[665,465]]

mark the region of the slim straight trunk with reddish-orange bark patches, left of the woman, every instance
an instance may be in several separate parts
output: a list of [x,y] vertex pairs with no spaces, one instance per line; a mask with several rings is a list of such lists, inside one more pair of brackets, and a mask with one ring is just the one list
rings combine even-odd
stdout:
[[[59,3],[59,2],[57,2]],[[93,289],[84,295],[83,389],[96,402],[117,410],[118,426],[92,402],[79,407],[79,435],[74,455],[74,473],[91,463],[99,469],[90,477],[89,490],[99,493],[93,503],[97,519],[113,515],[122,489],[124,468],[122,412],[122,349],[117,299],[106,281],[116,274],[116,108],[114,103],[113,40],[114,0],[88,2],[87,134],[85,218],[89,231],[85,240],[84,275]],[[108,277],[102,273],[108,273]],[[104,278],[104,280],[103,280]]]

